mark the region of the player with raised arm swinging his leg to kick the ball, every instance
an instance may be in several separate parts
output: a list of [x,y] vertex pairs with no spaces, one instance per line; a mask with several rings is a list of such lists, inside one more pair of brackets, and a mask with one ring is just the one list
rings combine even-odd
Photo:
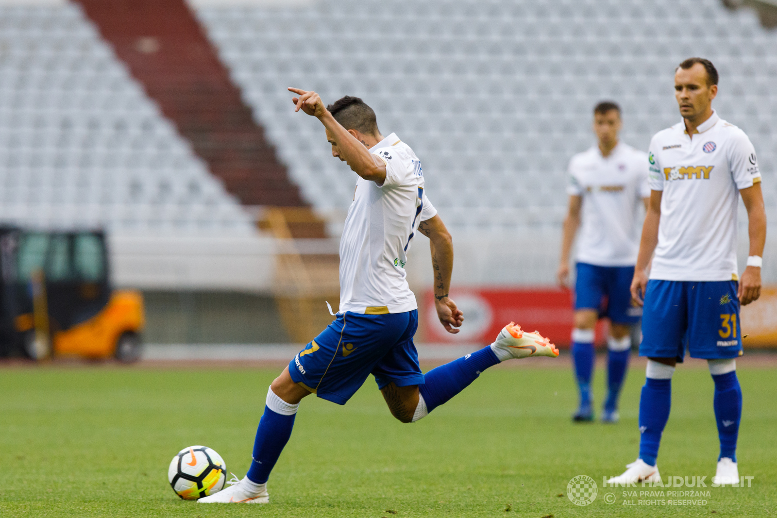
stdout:
[[559,356],[548,339],[510,323],[490,346],[421,374],[413,345],[416,298],[403,268],[416,231],[430,239],[440,322],[456,333],[464,320],[448,298],[451,235],[423,191],[421,162],[395,134],[380,134],[375,112],[361,99],[346,96],[325,107],[315,92],[289,90],[299,96],[291,99],[296,110],[318,117],[326,128],[332,155],[358,175],[340,241],[340,311],[270,385],[246,478],[203,503],[268,502],[267,478],[307,395],[345,405],[373,374],[392,415],[416,422],[492,365]]

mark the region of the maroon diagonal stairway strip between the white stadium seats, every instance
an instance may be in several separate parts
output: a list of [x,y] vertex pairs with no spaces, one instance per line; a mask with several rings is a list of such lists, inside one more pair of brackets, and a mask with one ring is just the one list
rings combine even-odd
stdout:
[[306,205],[184,0],[75,2],[229,193],[246,205]]

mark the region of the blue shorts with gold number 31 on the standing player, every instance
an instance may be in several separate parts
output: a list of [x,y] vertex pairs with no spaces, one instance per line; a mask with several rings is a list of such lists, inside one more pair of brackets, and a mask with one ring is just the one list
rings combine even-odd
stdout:
[[742,355],[735,280],[649,280],[639,356],[719,360]]

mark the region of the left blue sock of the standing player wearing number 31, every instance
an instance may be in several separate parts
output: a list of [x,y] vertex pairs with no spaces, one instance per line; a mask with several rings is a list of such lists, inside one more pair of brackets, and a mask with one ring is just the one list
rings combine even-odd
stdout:
[[672,404],[672,381],[654,380],[649,377],[639,398],[639,458],[651,466],[656,465],[658,447],[664,426],[669,420]]

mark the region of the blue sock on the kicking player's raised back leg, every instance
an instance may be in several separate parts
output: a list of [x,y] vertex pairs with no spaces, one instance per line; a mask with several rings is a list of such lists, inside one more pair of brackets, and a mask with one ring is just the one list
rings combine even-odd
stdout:
[[427,404],[427,411],[431,412],[447,402],[475,381],[483,370],[497,363],[499,358],[493,353],[491,346],[486,346],[424,374],[424,383],[418,385],[418,390]]

